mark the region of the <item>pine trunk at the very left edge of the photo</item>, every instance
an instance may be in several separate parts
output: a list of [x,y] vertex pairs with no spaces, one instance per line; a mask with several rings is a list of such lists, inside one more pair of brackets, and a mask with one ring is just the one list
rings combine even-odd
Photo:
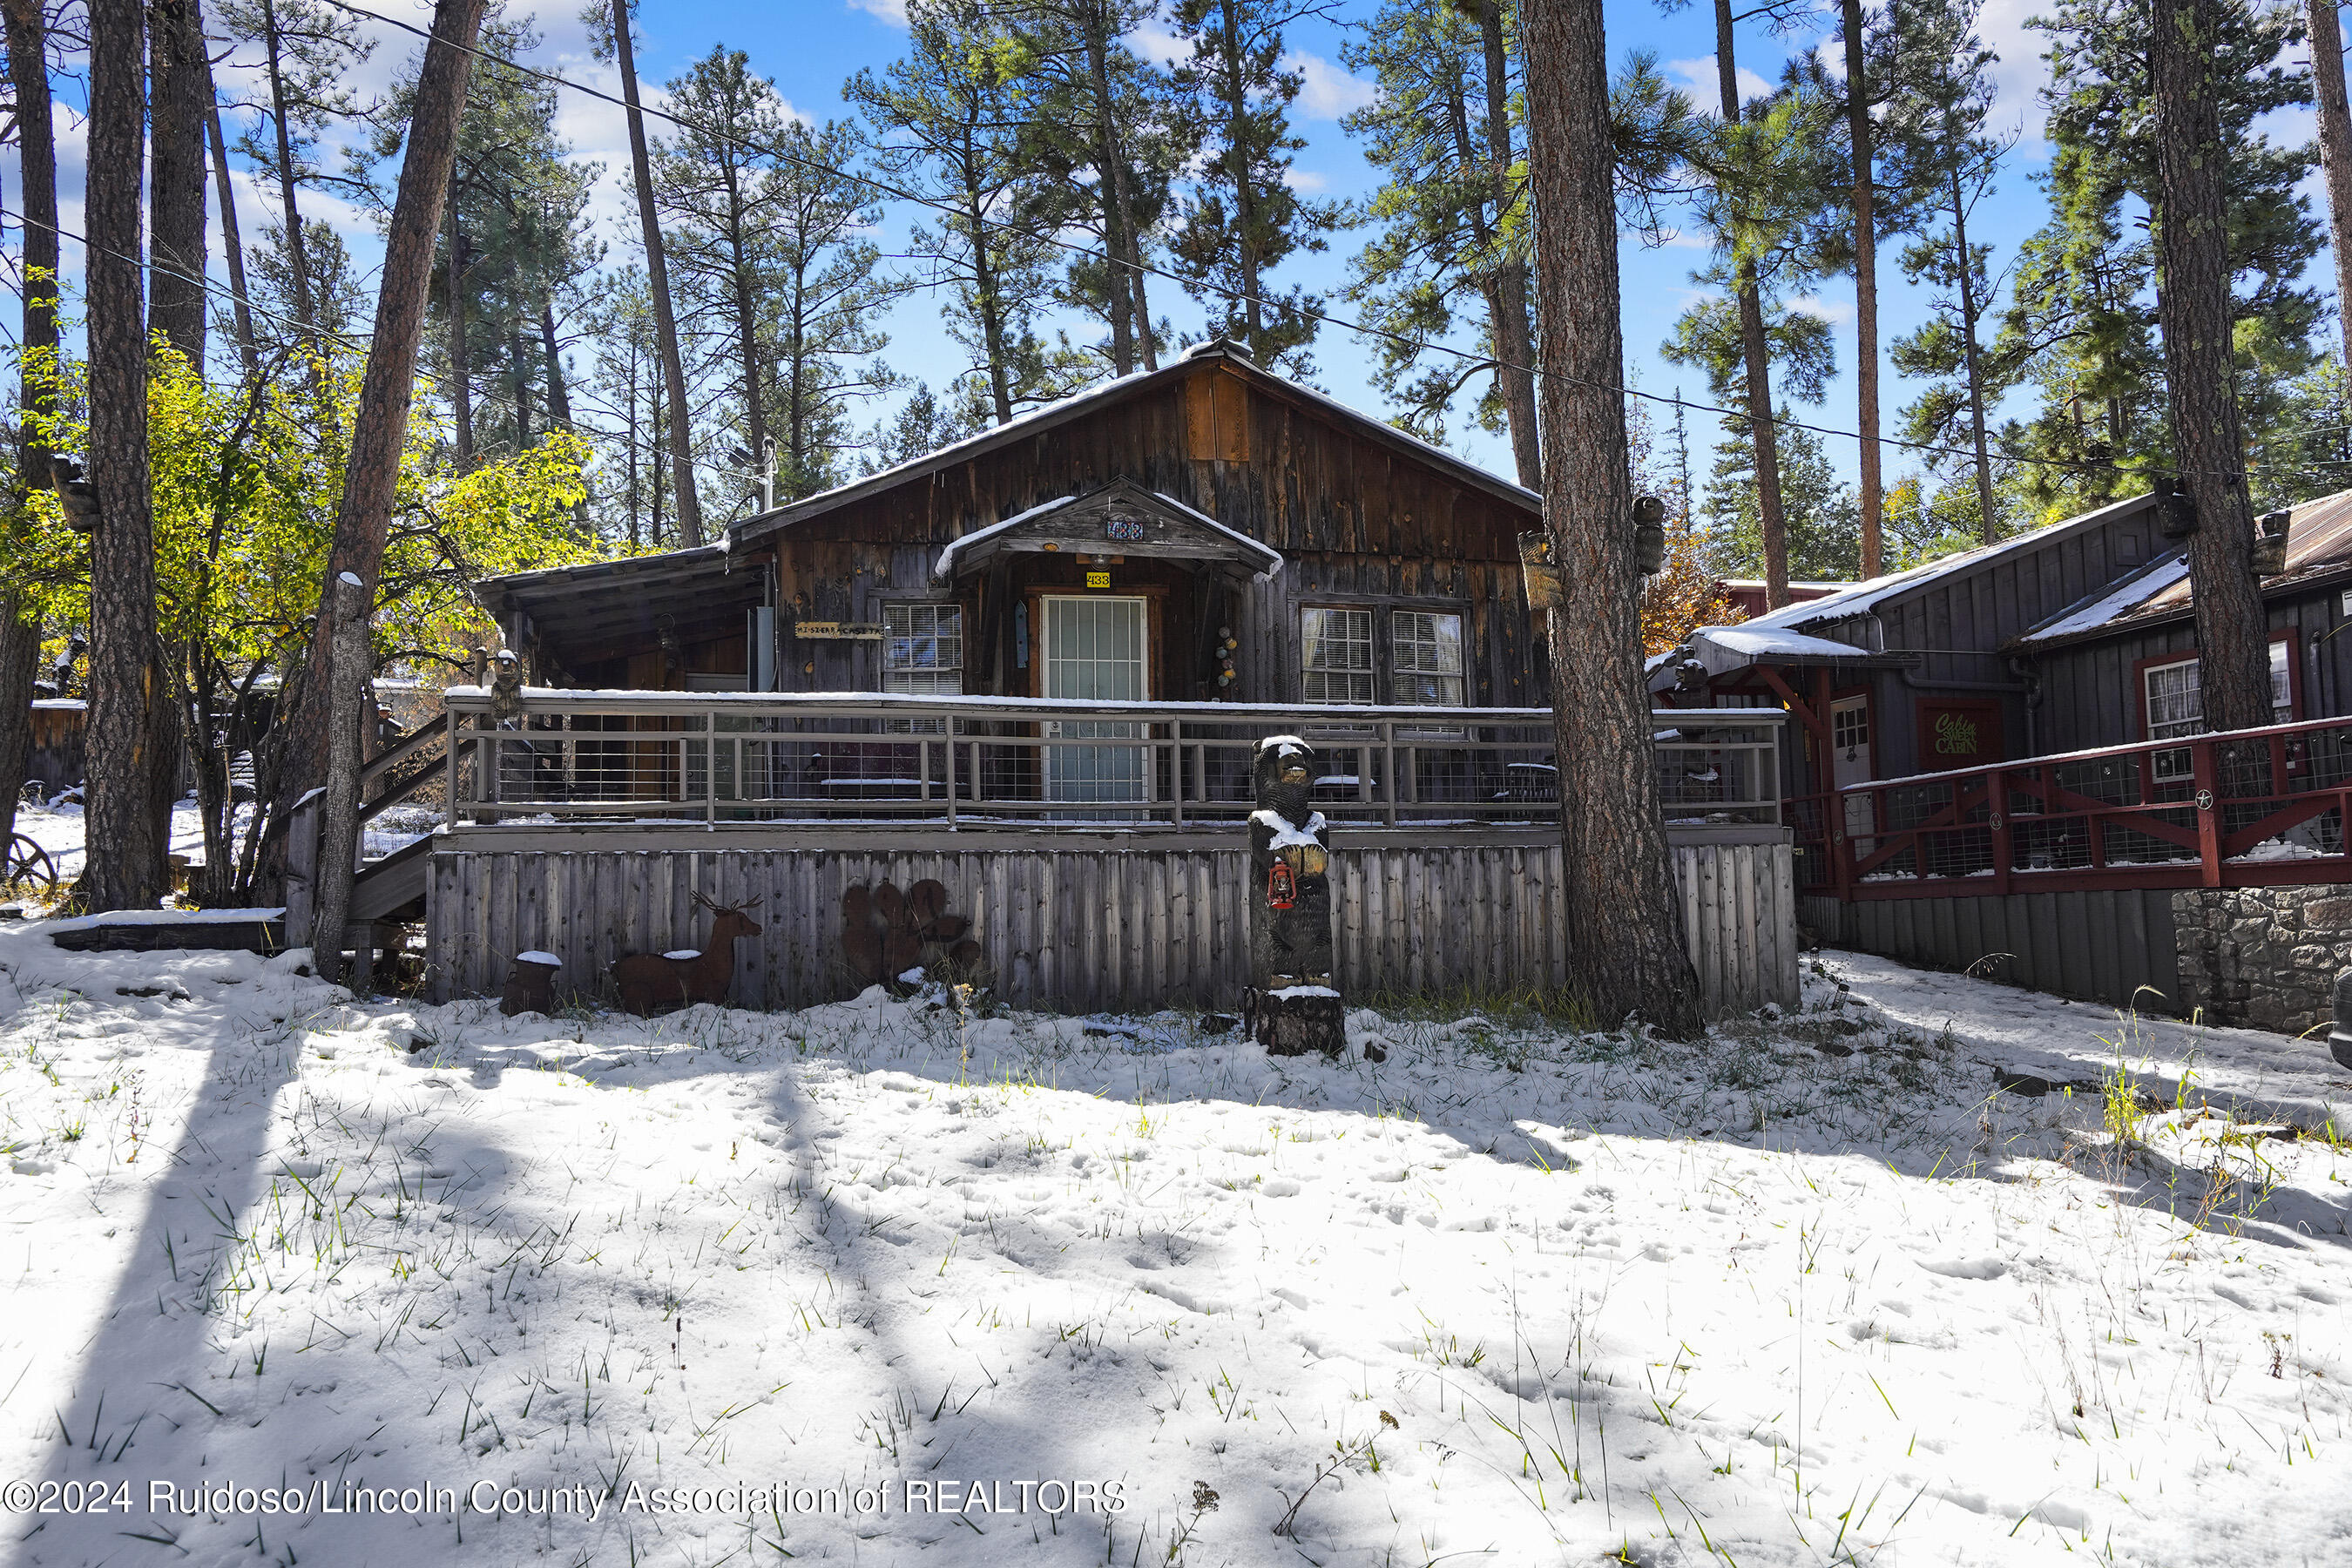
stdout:
[[[56,132],[49,120],[49,73],[40,0],[0,0],[9,80],[16,85],[16,153],[24,186],[24,336],[16,407],[16,477],[9,515],[24,515],[26,491],[47,489],[49,451],[24,414],[54,404],[33,357],[56,348]],[[40,625],[16,595],[0,597],[0,844],[16,830],[16,790],[33,759],[33,682],[40,677]]]

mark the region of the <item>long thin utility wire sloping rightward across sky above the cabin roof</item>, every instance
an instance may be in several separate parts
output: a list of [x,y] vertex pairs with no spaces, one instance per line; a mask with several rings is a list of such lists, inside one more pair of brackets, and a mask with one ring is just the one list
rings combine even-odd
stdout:
[[[642,115],[652,115],[654,120],[668,120],[670,125],[675,125],[680,129],[689,129],[689,132],[696,132],[701,136],[710,136],[713,141],[724,141],[724,143],[743,148],[748,153],[764,153],[767,158],[776,158],[781,162],[797,165],[797,167],[809,169],[814,174],[826,174],[830,179],[840,179],[840,181],[847,181],[847,183],[866,186],[868,190],[875,190],[880,195],[889,195],[889,197],[896,197],[901,202],[913,202],[917,207],[929,207],[934,212],[943,212],[948,216],[969,221],[969,214],[957,212],[948,202],[941,202],[941,200],[927,197],[927,195],[917,195],[915,190],[908,190],[903,186],[894,186],[891,181],[884,181],[884,179],[875,179],[873,174],[858,174],[854,169],[837,169],[833,165],[816,162],[814,158],[802,158],[800,153],[793,153],[790,148],[779,148],[779,146],[771,146],[771,143],[750,141],[750,139],[736,136],[736,134],[731,134],[727,129],[706,125],[701,120],[689,120],[684,115],[673,115],[666,108],[652,108],[652,106],[642,106],[640,103],[635,110],[630,110],[630,106],[628,106],[626,99],[619,99],[619,96],[600,89],[600,87],[590,87],[588,82],[576,82],[576,80],[572,80],[567,75],[555,75],[553,71],[541,71],[536,66],[524,66],[522,61],[517,61],[513,56],[494,54],[494,52],[475,47],[475,45],[459,45],[454,38],[433,33],[430,28],[421,28],[414,21],[400,21],[397,16],[386,16],[383,12],[372,12],[365,5],[350,5],[350,0],[325,0],[325,2],[332,5],[339,12],[348,12],[353,16],[367,16],[372,21],[381,21],[383,26],[400,28],[402,33],[412,33],[412,35],[423,38],[428,42],[442,42],[442,45],[449,45],[449,47],[466,49],[475,59],[485,59],[485,61],[492,61],[494,66],[503,66],[503,68],[515,71],[520,75],[529,75],[529,78],[536,78],[541,82],[550,82],[555,87],[564,87],[569,92],[579,92],[579,94],[586,94],[590,99],[600,99],[600,101],[612,103],[616,108],[623,108],[628,113],[642,113]],[[1065,252],[1070,252],[1075,256],[1084,256],[1087,261],[1096,261],[1096,263],[1103,263],[1103,266],[1122,268],[1122,270],[1129,270],[1129,273],[1143,273],[1148,277],[1162,277],[1167,282],[1181,284],[1188,292],[1190,289],[1207,289],[1209,294],[1221,294],[1221,296],[1225,296],[1228,301],[1235,301],[1235,303],[1244,303],[1249,299],[1240,289],[1225,289],[1225,287],[1211,284],[1207,280],[1188,280],[1188,277],[1181,277],[1181,275],[1169,273],[1164,268],[1150,266],[1145,261],[1127,261],[1124,256],[1110,256],[1108,252],[1098,252],[1091,244],[1084,244],[1080,240],[1065,240],[1061,235],[1040,235],[1035,230],[1021,228],[1018,223],[1009,223],[1004,219],[988,219],[988,216],[983,216],[983,219],[978,219],[978,223],[983,228],[1002,228],[1002,230],[1018,233],[1018,235],[1030,237],[1030,240],[1042,240],[1047,244],[1054,244],[1056,249],[1065,249]],[[1672,397],[1668,397],[1663,393],[1644,393],[1642,388],[1635,388],[1635,386],[1611,386],[1606,381],[1595,381],[1590,376],[1571,376],[1566,371],[1548,371],[1543,367],[1515,364],[1510,360],[1496,360],[1494,355],[1472,353],[1468,348],[1454,348],[1451,343],[1435,343],[1435,341],[1425,341],[1425,339],[1414,339],[1414,336],[1406,336],[1402,331],[1390,331],[1385,327],[1367,327],[1364,322],[1355,322],[1355,320],[1348,320],[1348,317],[1341,317],[1341,315],[1329,315],[1324,310],[1305,310],[1305,308],[1296,308],[1296,306],[1279,306],[1279,308],[1282,310],[1291,310],[1296,315],[1303,315],[1303,317],[1308,317],[1312,322],[1322,322],[1324,327],[1338,327],[1343,331],[1355,331],[1355,334],[1362,334],[1362,336],[1369,336],[1369,339],[1385,339],[1390,343],[1399,343],[1404,348],[1414,348],[1416,353],[1442,353],[1442,355],[1454,355],[1456,360],[1472,360],[1482,369],[1491,367],[1491,369],[1522,371],[1522,374],[1529,374],[1529,376],[1545,376],[1545,378],[1552,378],[1552,381],[1566,381],[1571,386],[1592,388],[1597,393],[1616,393],[1618,397],[1642,397],[1646,402],[1658,402],[1658,404],[1665,404],[1665,407],[1672,407],[1672,409],[1689,409],[1693,414],[1715,414],[1719,418],[1731,418],[1731,421],[1750,423],[1750,414],[1745,409],[1726,409],[1726,407],[1712,404],[1712,402],[1693,402],[1689,397],[1682,397],[1679,393],[1672,395]],[[1853,440],[1853,442],[1863,440],[1863,435],[1858,430],[1842,430],[1837,425],[1816,425],[1816,423],[1809,423],[1809,421],[1802,421],[1802,418],[1771,416],[1766,423],[1771,423],[1776,428],[1783,428],[1783,430],[1811,430],[1813,435],[1837,435],[1842,440]],[[1966,458],[1971,463],[1976,461],[1976,451],[1971,451],[1966,447],[1943,447],[1943,444],[1936,444],[1936,442],[1905,442],[1905,440],[1889,437],[1889,435],[1882,435],[1882,437],[1875,437],[1875,440],[1879,444],[1884,444],[1884,447],[1898,447],[1903,451],[1926,451],[1926,454],[1933,454],[1933,456]],[[1999,458],[2004,463],[2034,463],[2034,465],[2042,465],[2042,468],[2067,468],[2067,470],[2074,470],[2074,473],[2117,473],[2117,475],[2126,475],[2126,477],[2133,477],[2133,480],[2147,480],[2147,477],[2152,477],[2152,470],[2129,468],[2124,463],[2098,463],[2098,461],[2089,461],[2086,463],[2086,461],[2074,461],[2074,458],[2025,456],[2025,454],[2016,454],[2016,451],[2009,451],[2009,449],[2002,449]],[[2183,477],[2185,473],[2187,470],[2180,470],[2173,477]],[[2239,475],[2230,473],[2230,475],[2218,475],[2218,477],[2239,477]]]

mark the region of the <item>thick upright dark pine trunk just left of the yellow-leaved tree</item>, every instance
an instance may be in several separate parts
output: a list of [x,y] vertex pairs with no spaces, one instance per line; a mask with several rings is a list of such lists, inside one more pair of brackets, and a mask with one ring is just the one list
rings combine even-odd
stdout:
[[174,682],[155,642],[148,496],[146,310],[139,296],[139,165],[146,141],[139,0],[89,5],[89,795],[87,910],[153,910],[172,889],[155,773]]

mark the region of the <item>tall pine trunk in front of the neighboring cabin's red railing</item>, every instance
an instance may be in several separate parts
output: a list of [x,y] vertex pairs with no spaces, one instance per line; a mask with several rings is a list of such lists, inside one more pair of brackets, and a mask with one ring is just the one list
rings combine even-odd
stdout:
[[2173,451],[2197,505],[2197,684],[2206,729],[2270,724],[2270,632],[2230,364],[2230,254],[2216,71],[2218,0],[2154,0],[2157,259]]

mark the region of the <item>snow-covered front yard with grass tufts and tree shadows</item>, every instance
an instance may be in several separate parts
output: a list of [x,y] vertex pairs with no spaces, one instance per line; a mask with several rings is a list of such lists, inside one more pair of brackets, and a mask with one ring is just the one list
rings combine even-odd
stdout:
[[1359,1011],[1385,1063],[1277,1063],[40,931],[12,1563],[2352,1563],[2310,1041],[1830,954],[1703,1048]]

